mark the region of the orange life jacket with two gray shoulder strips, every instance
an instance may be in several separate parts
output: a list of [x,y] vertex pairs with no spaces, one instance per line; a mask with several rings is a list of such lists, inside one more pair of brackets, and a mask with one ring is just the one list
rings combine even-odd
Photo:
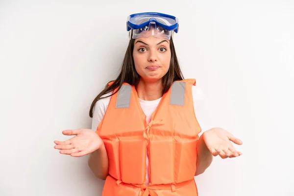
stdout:
[[123,83],[111,97],[96,131],[109,159],[102,196],[198,195],[194,175],[201,128],[193,107],[195,84],[195,79],[173,82],[150,123],[146,122],[134,86]]

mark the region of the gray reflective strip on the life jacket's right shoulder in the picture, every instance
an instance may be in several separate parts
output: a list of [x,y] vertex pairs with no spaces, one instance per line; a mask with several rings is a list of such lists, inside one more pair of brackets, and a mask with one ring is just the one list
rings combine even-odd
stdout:
[[186,82],[173,82],[171,92],[171,105],[184,105]]

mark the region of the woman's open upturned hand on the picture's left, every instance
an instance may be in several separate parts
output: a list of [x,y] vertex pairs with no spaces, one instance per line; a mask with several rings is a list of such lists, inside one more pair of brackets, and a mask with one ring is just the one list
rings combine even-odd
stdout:
[[61,154],[80,157],[96,151],[103,145],[101,138],[91,129],[64,130],[62,133],[75,136],[63,142],[54,141],[54,148],[60,149]]

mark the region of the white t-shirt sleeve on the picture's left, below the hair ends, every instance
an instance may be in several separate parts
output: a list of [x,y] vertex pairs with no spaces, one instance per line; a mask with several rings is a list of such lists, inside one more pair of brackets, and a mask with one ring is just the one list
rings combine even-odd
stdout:
[[[112,92],[109,92],[105,95],[103,95],[102,97],[106,97],[111,95]],[[102,98],[99,99],[93,108],[93,118],[92,118],[92,130],[96,131],[97,127],[99,125],[99,123],[102,121],[102,119],[104,118],[104,115],[106,113],[109,101],[110,101],[111,97],[107,97],[107,98]]]

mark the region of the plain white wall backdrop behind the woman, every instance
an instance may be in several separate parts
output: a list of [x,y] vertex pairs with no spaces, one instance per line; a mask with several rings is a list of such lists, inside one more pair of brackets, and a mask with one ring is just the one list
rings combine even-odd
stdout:
[[293,0],[0,0],[0,196],[100,196],[88,156],[59,154],[128,45],[126,18],[179,18],[185,78],[205,95],[202,130],[222,127],[243,155],[214,157],[199,196],[294,196]]

